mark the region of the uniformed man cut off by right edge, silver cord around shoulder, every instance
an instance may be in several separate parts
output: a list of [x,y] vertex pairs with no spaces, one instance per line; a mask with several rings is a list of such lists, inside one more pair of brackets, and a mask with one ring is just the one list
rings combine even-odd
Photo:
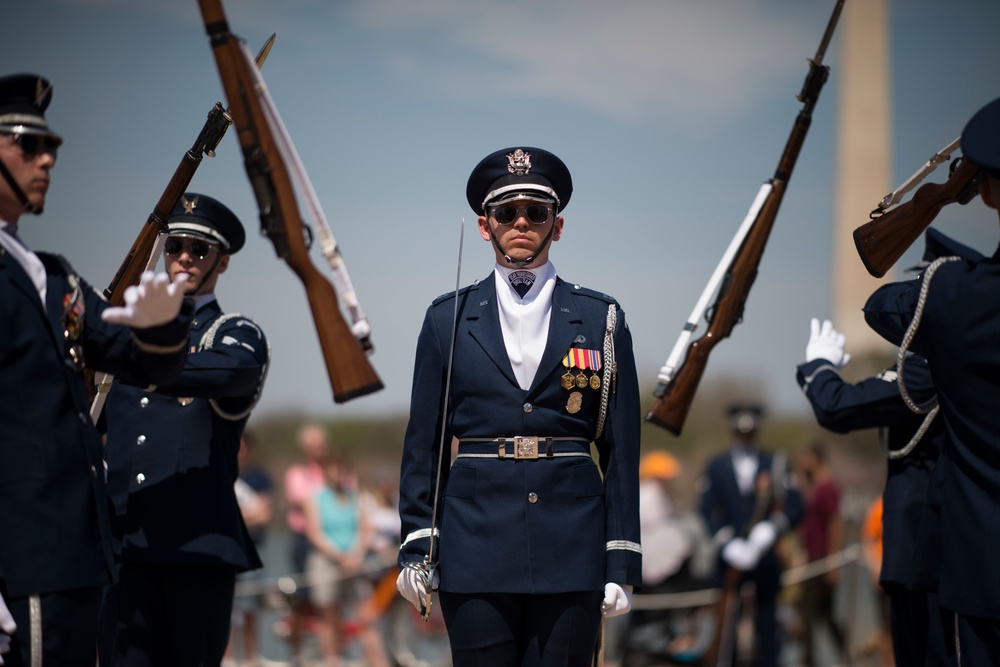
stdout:
[[[963,159],[981,170],[979,194],[1000,202],[1000,99],[962,131]],[[959,664],[1000,664],[1000,252],[932,263],[919,279],[880,287],[865,319],[927,359],[945,428],[938,598],[954,614]],[[908,336],[909,332],[909,336]],[[905,377],[905,373],[904,373]]]

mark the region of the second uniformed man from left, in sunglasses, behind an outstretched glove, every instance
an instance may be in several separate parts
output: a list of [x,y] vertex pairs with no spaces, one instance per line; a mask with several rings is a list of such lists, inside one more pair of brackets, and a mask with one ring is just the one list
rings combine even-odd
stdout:
[[168,220],[171,275],[195,301],[191,354],[178,381],[108,395],[108,494],[119,582],[102,610],[101,664],[218,665],[237,572],[260,567],[234,483],[237,452],[269,361],[264,333],[223,314],[219,275],[244,242],[217,200],[186,193]]

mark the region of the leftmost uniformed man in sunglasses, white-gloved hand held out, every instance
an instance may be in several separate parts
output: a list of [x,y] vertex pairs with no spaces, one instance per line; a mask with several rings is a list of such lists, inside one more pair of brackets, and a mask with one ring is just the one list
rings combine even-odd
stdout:
[[184,364],[190,323],[189,308],[178,316],[183,291],[165,274],[143,277],[127,307],[111,308],[65,259],[18,240],[20,217],[44,208],[62,143],[44,116],[51,98],[40,76],[0,78],[0,660],[8,667],[93,667],[114,563],[83,370],[169,382]]

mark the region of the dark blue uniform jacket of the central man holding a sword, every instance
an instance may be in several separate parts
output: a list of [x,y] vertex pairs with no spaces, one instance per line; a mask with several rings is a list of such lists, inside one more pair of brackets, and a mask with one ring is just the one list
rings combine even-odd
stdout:
[[[493,275],[463,289],[458,299],[446,447],[453,437],[552,436],[577,439],[558,443],[557,451],[589,454],[601,392],[564,389],[562,360],[574,346],[603,349],[614,300],[556,279],[545,352],[525,391],[507,358]],[[422,561],[429,548],[454,309],[454,294],[437,299],[417,341],[400,480],[401,563]],[[459,458],[450,469],[445,460],[436,550],[442,590],[544,594],[603,590],[606,582],[641,586],[641,417],[631,334],[621,310],[614,345],[618,375],[595,442],[599,466],[590,456]],[[607,373],[603,354],[602,363]],[[460,447],[484,449],[490,446]]]

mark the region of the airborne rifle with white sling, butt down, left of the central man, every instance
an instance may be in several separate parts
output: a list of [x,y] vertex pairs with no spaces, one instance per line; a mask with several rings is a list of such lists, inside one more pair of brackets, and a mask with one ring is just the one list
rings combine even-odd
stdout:
[[[271,240],[278,257],[288,264],[305,287],[333,389],[333,400],[342,403],[378,391],[382,382],[366,356],[372,349],[369,340],[371,329],[357,302],[319,200],[271,100],[267,85],[253,66],[253,58],[244,42],[229,31],[221,0],[199,0],[198,4],[229,100],[233,124],[243,150],[243,163],[257,198],[261,232]],[[302,220],[293,176],[318,228],[334,281],[353,317],[351,327],[341,314],[338,290],[309,258],[312,229]]]

